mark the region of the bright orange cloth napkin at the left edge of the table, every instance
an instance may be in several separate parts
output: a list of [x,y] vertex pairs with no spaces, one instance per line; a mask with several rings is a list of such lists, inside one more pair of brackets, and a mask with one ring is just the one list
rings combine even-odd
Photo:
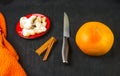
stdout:
[[19,56],[6,40],[6,22],[0,12],[0,76],[27,76],[19,64]]

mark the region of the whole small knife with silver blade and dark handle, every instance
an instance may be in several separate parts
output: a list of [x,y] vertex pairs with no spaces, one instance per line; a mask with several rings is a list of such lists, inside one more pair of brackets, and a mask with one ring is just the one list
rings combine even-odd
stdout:
[[64,12],[64,23],[63,23],[63,44],[62,44],[62,61],[68,63],[69,43],[68,38],[70,37],[69,31],[69,18],[66,12]]

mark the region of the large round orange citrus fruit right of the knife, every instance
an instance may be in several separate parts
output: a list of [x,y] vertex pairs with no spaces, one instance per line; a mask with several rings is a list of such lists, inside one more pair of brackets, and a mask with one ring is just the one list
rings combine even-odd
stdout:
[[101,56],[110,51],[114,43],[111,29],[101,22],[87,22],[76,33],[77,46],[90,56]]

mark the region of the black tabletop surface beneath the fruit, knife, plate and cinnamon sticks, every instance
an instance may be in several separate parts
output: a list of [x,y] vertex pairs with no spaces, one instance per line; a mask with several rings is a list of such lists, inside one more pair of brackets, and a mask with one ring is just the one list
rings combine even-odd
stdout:
[[[120,76],[119,0],[1,0],[0,11],[6,18],[7,39],[20,56],[19,62],[28,76]],[[69,16],[71,34],[67,65],[61,59],[64,11]],[[49,32],[33,40],[23,39],[15,31],[19,18],[30,13],[41,13],[51,20]],[[87,56],[76,46],[76,32],[88,21],[100,21],[114,33],[114,45],[104,56]],[[48,60],[43,62],[44,54],[38,56],[35,50],[51,36],[57,42]]]

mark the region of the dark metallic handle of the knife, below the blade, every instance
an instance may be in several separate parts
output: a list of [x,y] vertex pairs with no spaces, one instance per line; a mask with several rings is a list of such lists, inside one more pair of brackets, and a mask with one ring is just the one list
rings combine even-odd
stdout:
[[63,44],[62,44],[62,61],[63,61],[63,63],[68,63],[68,52],[69,52],[68,38],[63,37]]

